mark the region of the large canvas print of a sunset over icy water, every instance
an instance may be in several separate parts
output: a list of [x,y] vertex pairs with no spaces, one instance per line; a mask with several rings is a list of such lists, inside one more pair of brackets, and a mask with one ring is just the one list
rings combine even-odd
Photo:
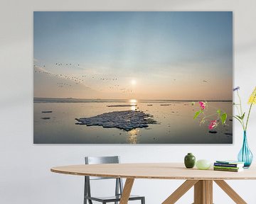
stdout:
[[232,12],[33,13],[35,144],[231,144],[232,89]]

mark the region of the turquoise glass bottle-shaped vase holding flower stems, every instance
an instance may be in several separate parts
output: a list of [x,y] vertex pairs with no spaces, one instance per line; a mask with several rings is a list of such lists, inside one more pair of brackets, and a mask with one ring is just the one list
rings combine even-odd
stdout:
[[247,135],[246,131],[244,131],[243,135],[243,142],[242,142],[242,148],[240,149],[240,152],[238,154],[238,161],[239,162],[245,162],[244,168],[249,168],[252,164],[253,155],[250,151],[250,148],[247,144]]

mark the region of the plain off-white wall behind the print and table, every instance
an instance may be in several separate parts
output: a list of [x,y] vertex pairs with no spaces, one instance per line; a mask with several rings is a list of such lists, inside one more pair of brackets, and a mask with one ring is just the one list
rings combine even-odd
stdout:
[[[1,1],[0,203],[82,203],[82,177],[53,174],[50,167],[82,164],[85,155],[119,154],[122,162],[182,162],[187,152],[198,159],[235,159],[242,143],[235,123],[233,145],[33,145],[33,11],[233,11],[234,86],[246,102],[256,85],[255,8],[254,0]],[[253,112],[248,136],[256,155],[256,107]],[[133,193],[145,195],[148,204],[161,203],[181,182],[137,180]],[[228,183],[256,203],[256,181]],[[214,187],[215,203],[233,203]],[[178,203],[192,203],[192,196],[189,191]]]

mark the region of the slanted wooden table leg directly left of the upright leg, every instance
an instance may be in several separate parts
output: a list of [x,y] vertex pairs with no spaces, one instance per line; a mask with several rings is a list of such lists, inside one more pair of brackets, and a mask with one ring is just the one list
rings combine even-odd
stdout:
[[162,204],[174,204],[181,196],[183,196],[198,180],[187,180],[179,186],[174,193],[171,194]]

